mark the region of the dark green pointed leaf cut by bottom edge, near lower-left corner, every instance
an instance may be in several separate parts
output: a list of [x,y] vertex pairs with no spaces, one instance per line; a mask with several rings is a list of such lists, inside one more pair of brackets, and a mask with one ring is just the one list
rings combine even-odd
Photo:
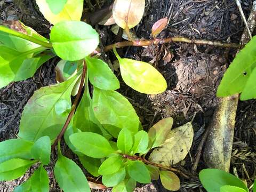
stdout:
[[49,192],[49,178],[43,165],[33,173],[30,180],[33,192]]

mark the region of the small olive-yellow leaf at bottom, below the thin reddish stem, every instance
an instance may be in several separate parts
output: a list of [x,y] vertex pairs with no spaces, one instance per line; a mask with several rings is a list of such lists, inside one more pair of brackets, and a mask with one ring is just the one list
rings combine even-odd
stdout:
[[171,171],[160,171],[160,179],[165,189],[177,191],[180,189],[180,179]]

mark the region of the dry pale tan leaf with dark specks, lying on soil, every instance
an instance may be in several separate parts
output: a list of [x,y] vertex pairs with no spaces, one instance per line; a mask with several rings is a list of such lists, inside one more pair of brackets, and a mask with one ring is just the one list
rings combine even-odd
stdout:
[[193,137],[194,131],[191,122],[173,129],[167,135],[163,145],[153,150],[149,156],[149,161],[164,166],[182,161],[188,154]]

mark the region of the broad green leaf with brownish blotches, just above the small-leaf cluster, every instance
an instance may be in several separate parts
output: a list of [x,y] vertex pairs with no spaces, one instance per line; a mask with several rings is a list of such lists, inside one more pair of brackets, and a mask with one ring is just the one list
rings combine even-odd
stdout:
[[95,117],[115,138],[123,128],[129,129],[132,134],[138,132],[139,117],[131,103],[120,93],[100,90],[95,87],[92,102]]

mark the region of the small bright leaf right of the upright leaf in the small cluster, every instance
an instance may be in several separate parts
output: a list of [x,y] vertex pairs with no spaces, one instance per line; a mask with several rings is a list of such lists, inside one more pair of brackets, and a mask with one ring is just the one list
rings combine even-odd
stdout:
[[148,133],[146,131],[139,131],[134,135],[134,143],[132,147],[132,153],[141,153],[148,147]]

